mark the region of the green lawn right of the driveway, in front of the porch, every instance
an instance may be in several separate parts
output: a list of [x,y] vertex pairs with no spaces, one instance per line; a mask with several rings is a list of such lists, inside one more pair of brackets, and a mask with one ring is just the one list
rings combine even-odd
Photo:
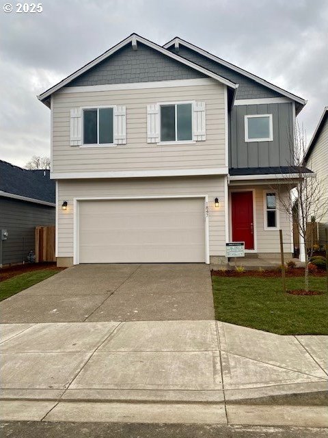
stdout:
[[[279,335],[328,335],[327,294],[284,294],[281,279],[212,279],[217,320]],[[303,289],[303,282],[299,277],[286,279],[287,289]],[[310,289],[325,291],[325,278],[311,277]]]

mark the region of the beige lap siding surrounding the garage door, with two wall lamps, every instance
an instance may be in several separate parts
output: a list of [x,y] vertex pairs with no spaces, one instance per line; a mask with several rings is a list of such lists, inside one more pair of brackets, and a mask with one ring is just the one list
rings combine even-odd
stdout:
[[[67,201],[68,209],[59,209],[57,257],[73,257],[74,198],[197,194],[208,195],[210,255],[225,255],[225,181],[226,177],[59,180],[57,204]],[[220,200],[219,208],[214,206],[216,197]]]

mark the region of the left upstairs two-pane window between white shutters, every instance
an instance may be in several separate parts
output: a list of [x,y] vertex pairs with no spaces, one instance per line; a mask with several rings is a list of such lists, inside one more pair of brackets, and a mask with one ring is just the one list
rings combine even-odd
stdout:
[[83,144],[113,144],[113,107],[83,110]]

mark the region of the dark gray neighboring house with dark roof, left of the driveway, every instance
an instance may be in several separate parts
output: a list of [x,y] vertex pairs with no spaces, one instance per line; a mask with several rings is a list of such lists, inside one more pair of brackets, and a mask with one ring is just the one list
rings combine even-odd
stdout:
[[55,224],[55,182],[49,170],[26,170],[0,160],[0,266],[27,261],[37,226]]

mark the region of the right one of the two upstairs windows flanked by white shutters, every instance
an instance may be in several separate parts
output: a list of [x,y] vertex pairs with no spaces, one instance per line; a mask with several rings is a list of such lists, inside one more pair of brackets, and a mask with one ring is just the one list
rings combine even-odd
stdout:
[[160,106],[161,142],[193,140],[192,104],[176,103]]

